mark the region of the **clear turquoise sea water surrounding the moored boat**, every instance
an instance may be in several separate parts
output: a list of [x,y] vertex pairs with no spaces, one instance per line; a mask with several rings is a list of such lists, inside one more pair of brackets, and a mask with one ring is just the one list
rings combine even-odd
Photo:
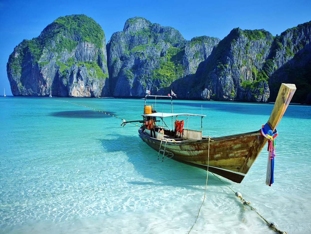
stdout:
[[[170,111],[165,103],[158,101],[158,112],[162,104]],[[140,99],[1,97],[0,233],[188,233],[207,173],[174,160],[160,163],[138,127],[120,127],[122,118],[139,120],[143,105]],[[216,137],[258,130],[272,107],[176,100],[173,109],[202,111],[203,135]],[[191,118],[189,126],[200,128],[199,120]],[[265,184],[266,147],[241,184],[220,178],[279,229],[310,233],[311,107],[289,106],[278,131],[272,187]],[[191,233],[275,232],[209,173]]]

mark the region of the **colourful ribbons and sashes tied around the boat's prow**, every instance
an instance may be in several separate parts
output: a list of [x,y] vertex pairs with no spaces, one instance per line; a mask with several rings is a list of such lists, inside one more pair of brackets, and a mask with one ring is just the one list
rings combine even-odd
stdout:
[[261,126],[260,134],[268,139],[268,163],[267,163],[267,175],[266,175],[266,185],[271,186],[274,182],[274,157],[275,155],[275,139],[278,135],[277,130],[274,132],[270,128],[269,124]]

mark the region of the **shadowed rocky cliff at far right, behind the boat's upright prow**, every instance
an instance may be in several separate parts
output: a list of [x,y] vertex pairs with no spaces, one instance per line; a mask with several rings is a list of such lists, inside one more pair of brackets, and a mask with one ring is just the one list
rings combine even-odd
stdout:
[[275,100],[281,83],[295,83],[294,102],[311,104],[311,21],[287,29],[277,36],[264,70],[270,98]]

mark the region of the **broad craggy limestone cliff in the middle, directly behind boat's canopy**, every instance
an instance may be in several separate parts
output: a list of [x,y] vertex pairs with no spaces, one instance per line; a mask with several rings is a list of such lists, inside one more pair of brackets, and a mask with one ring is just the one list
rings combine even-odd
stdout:
[[163,92],[175,80],[195,73],[218,38],[184,40],[176,29],[135,17],[107,44],[110,89],[114,96]]

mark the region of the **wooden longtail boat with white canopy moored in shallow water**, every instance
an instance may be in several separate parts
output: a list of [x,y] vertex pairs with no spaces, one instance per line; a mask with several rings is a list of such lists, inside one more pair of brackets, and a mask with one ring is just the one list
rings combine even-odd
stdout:
[[[272,113],[265,125],[268,128],[270,127],[271,133],[275,134],[276,126],[280,122],[295,90],[295,84],[281,84]],[[143,120],[129,122],[143,123],[138,130],[139,136],[148,146],[158,151],[158,159],[160,157],[162,161],[164,157],[171,158],[184,164],[209,170],[233,182],[241,183],[269,140],[268,138],[271,137],[262,130],[263,128],[254,132],[223,137],[202,136],[202,119],[206,115],[173,113],[173,109],[172,113],[156,112],[152,110],[151,106],[146,105],[147,97],[167,96],[146,95]],[[169,97],[172,104],[172,97]],[[186,128],[181,126],[183,123],[176,122],[179,115],[201,117],[201,131],[188,129],[188,121]],[[167,126],[165,128],[163,118],[171,117],[173,125],[173,116],[176,116],[175,129],[170,130]],[[162,120],[162,126],[158,125],[148,129],[149,122],[156,121],[156,118]],[[158,120],[158,122],[160,121]],[[126,123],[128,122],[124,122],[123,125]]]

